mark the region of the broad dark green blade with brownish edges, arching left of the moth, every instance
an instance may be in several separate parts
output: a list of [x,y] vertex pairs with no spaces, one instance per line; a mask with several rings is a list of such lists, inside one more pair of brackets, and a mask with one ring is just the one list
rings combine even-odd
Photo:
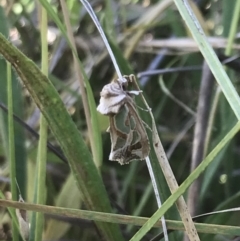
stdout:
[[[38,67],[0,34],[0,53],[13,65],[59,142],[90,210],[110,212],[102,179],[57,91]],[[122,240],[115,224],[96,223],[106,240]]]

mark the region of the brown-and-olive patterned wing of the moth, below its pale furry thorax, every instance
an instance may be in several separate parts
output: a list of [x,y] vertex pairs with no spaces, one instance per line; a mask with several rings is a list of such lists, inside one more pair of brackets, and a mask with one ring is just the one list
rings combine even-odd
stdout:
[[146,130],[133,105],[127,101],[110,117],[111,153],[109,160],[120,164],[145,159],[150,151]]

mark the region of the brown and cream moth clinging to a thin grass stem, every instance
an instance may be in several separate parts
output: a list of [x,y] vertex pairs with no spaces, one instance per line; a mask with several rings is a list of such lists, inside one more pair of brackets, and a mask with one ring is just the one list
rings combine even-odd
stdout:
[[139,117],[133,97],[139,91],[127,91],[128,83],[134,75],[123,76],[103,87],[97,110],[109,116],[107,132],[111,137],[109,160],[121,165],[133,160],[145,159],[150,151],[147,132]]

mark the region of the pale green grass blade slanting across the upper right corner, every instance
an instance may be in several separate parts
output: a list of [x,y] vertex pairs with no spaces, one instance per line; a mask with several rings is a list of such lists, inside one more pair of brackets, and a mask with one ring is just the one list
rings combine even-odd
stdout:
[[222,64],[218,60],[213,48],[208,43],[202,27],[196,19],[191,7],[187,0],[174,0],[182,18],[192,33],[198,47],[207,61],[209,68],[211,69],[214,77],[221,87],[226,99],[228,100],[233,112],[235,113],[238,120],[240,119],[240,99],[236,89],[231,83],[228,75],[226,74]]

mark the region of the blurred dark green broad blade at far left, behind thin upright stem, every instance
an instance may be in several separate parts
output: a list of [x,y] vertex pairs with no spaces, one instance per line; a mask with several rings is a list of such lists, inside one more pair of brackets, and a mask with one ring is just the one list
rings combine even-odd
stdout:
[[[3,8],[0,6],[0,32],[8,38],[8,20],[4,14]],[[7,65],[4,59],[0,59],[0,101],[7,106]],[[13,112],[23,119],[23,98],[22,89],[18,83],[15,72],[12,71],[12,93],[13,93]],[[3,147],[7,154],[8,150],[8,120],[7,114],[0,110],[0,136],[3,141]],[[25,198],[26,189],[26,147],[25,133],[23,127],[14,122],[15,136],[15,159],[16,159],[16,179],[21,190],[22,197]],[[14,181],[15,183],[15,181]]]

